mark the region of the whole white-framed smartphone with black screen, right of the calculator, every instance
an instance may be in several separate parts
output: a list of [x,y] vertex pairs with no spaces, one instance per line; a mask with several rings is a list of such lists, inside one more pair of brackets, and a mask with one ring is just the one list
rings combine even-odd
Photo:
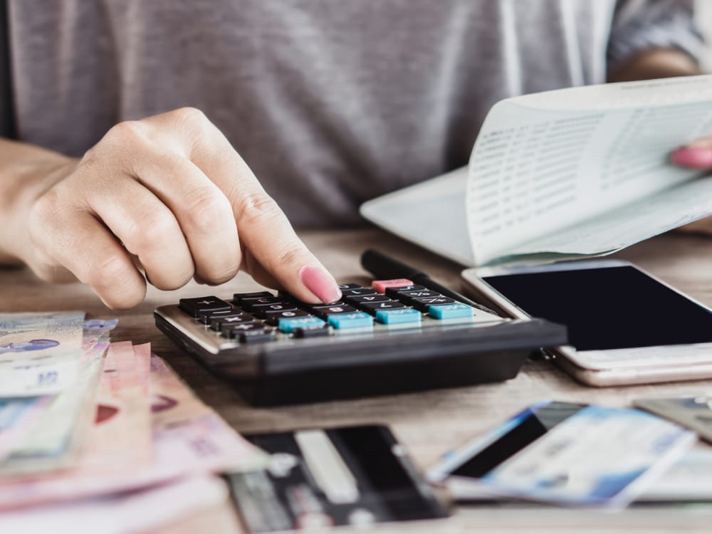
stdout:
[[627,261],[466,269],[474,293],[513,318],[567,326],[548,350],[585,384],[712,377],[712,310]]

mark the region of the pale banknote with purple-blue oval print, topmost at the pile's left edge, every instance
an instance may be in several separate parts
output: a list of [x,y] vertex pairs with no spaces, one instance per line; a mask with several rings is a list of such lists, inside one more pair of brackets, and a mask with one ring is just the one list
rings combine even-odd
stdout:
[[0,397],[56,394],[78,377],[83,312],[0,313]]

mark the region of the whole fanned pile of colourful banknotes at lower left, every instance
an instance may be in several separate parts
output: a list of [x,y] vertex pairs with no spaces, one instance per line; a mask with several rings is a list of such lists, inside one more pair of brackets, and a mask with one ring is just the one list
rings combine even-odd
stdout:
[[157,528],[224,502],[216,473],[265,464],[115,325],[0,314],[0,532]]

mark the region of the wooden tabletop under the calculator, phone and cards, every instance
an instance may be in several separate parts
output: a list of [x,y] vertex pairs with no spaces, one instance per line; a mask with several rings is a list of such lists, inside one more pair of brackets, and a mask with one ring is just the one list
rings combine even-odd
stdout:
[[[360,268],[360,253],[368,247],[382,248],[438,281],[461,288],[461,267],[376,229],[355,231],[304,232],[303,239],[340,281],[367,282]],[[689,234],[666,234],[617,256],[633,261],[707,305],[712,305],[712,239]],[[115,313],[108,310],[85,286],[51,286],[37,281],[26,270],[0,270],[0,311],[86,310],[100,318],[119,318],[115,340],[151,342],[154,352],[164,357],[193,387],[204,402],[214,407],[238,431],[277,431],[300,426],[344,424],[388,424],[409,449],[421,468],[433,465],[447,450],[481,434],[528,404],[545,398],[572,402],[595,402],[607,406],[627,406],[634,397],[650,394],[700,392],[712,387],[712,380],[678,384],[593,389],[574,382],[546,362],[528,362],[523,372],[501,384],[394,395],[340,402],[323,402],[296,407],[255,409],[248,407],[228,385],[220,382],[177,350],[157,328],[152,311],[157,305],[175,303],[182,297],[206,293],[231,295],[255,290],[258,286],[244,275],[219,288],[191,283],[174,292],[150,288],[139,307]],[[712,481],[710,481],[712,484]],[[239,530],[229,508],[202,514],[167,532]],[[562,509],[460,508],[454,518],[442,522],[409,524],[418,532],[644,532],[708,531],[712,508],[693,511],[629,510],[622,513],[595,513]],[[217,528],[216,528],[217,527]],[[379,528],[382,532],[404,532],[405,525]]]

